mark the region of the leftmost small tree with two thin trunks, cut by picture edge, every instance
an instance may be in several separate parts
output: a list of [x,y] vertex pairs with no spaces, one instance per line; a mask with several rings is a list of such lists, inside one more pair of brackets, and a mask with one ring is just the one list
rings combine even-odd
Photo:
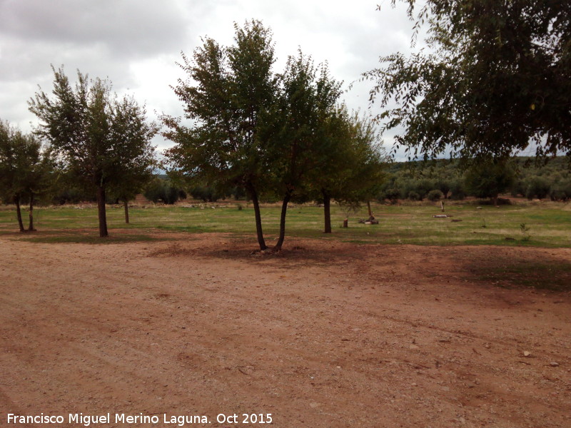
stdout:
[[34,202],[46,194],[54,180],[54,157],[50,148],[31,134],[24,134],[0,121],[0,197],[16,205],[20,232],[24,232],[21,203],[29,200],[29,226],[34,228]]

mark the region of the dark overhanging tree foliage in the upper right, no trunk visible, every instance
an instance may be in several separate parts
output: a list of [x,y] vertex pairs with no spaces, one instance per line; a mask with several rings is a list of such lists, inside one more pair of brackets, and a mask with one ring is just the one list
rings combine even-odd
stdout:
[[[393,6],[396,0],[393,0]],[[415,0],[408,14],[415,16]],[[489,160],[530,143],[537,156],[571,155],[571,13],[547,0],[428,0],[430,53],[380,58],[365,73],[384,130],[410,154]]]

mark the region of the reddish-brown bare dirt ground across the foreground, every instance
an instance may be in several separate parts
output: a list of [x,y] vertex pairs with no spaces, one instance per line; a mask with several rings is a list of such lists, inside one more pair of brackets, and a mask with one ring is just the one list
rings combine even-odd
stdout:
[[571,427],[570,293],[485,279],[571,249],[168,237],[0,238],[1,427]]

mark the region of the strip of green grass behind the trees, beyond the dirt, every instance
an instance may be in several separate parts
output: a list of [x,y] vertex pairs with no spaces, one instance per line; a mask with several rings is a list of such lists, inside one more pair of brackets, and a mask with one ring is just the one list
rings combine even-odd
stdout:
[[[109,207],[107,218],[112,239],[108,241],[154,239],[152,233],[156,231],[233,233],[250,235],[255,241],[256,229],[251,204],[242,203],[243,210],[238,210],[236,203],[215,205],[220,208],[213,209],[212,205],[203,205],[203,208],[131,208],[129,225],[124,223],[121,208]],[[226,208],[221,208],[221,205]],[[295,236],[383,244],[571,247],[569,203],[503,205],[501,208],[482,205],[480,210],[470,203],[445,205],[445,213],[453,215],[452,218],[433,218],[433,215],[440,214],[440,207],[436,204],[373,204],[373,212],[380,224],[363,225],[358,220],[368,217],[366,208],[350,212],[335,206],[332,209],[333,234],[325,235],[322,233],[323,208],[296,205],[288,210],[286,238]],[[34,213],[34,224],[41,233],[31,234],[24,239],[34,242],[101,241],[97,238],[95,208],[36,208]],[[264,233],[271,242],[278,234],[280,208],[277,205],[264,206],[261,213]],[[26,212],[23,216],[26,220]],[[349,218],[349,228],[340,227],[343,218]],[[453,219],[462,221],[452,222]],[[530,228],[528,240],[525,240],[520,230],[522,223]],[[114,233],[113,229],[121,229],[121,233]],[[15,211],[9,208],[0,210],[0,235],[11,234],[16,230]],[[20,237],[19,234],[18,236]]]

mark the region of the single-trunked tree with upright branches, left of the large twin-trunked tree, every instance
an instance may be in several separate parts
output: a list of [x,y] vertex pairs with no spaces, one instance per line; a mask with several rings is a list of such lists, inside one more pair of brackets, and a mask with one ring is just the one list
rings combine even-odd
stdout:
[[29,101],[41,121],[37,130],[64,158],[66,172],[97,195],[99,236],[106,237],[106,189],[123,174],[153,163],[151,138],[158,128],[133,98],[118,100],[111,83],[78,71],[73,88],[62,68],[54,70],[53,98],[43,91]]

